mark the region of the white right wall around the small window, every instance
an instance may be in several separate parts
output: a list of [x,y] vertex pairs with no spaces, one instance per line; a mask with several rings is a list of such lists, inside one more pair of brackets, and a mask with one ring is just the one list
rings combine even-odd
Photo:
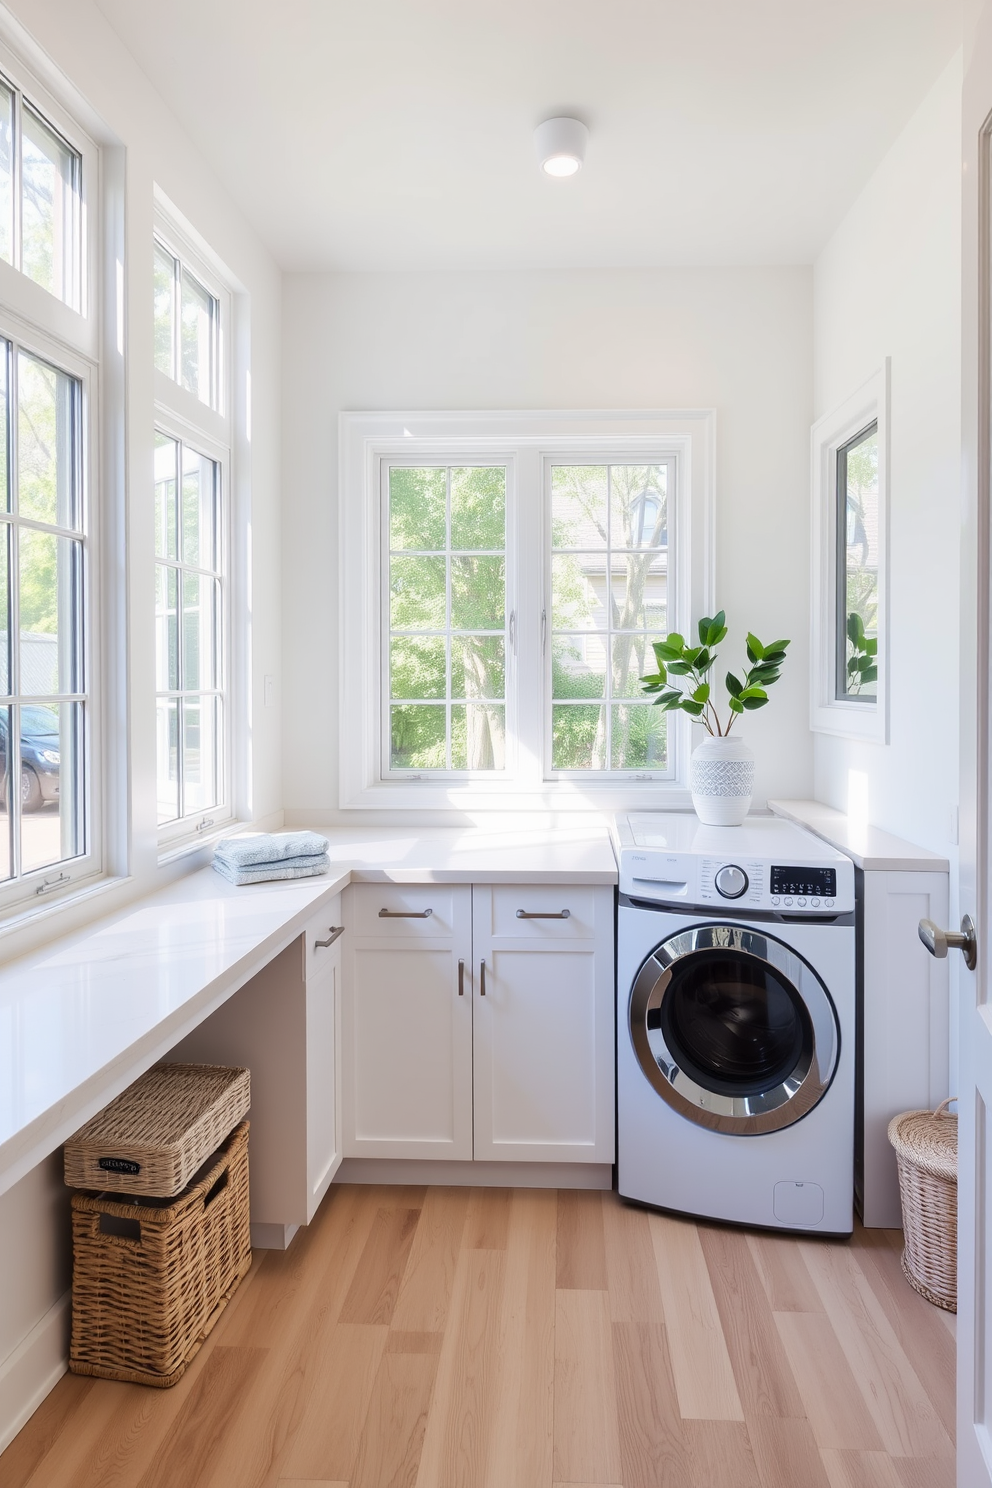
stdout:
[[817,735],[817,799],[953,857],[958,804],[961,58],[817,260],[815,414],[892,359],[891,743]]

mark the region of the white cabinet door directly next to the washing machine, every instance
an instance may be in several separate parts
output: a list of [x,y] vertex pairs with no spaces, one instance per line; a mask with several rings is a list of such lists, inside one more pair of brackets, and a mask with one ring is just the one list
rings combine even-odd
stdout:
[[476,885],[473,905],[474,1156],[613,1162],[613,890]]

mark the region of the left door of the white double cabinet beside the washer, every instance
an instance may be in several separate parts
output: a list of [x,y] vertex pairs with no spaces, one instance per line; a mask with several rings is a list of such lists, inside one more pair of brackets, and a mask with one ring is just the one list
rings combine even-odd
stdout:
[[344,912],[345,1156],[471,1158],[471,890],[354,884]]

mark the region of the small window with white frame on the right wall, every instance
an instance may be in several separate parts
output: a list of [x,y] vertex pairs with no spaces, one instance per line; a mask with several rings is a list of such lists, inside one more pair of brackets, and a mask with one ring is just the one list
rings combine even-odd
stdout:
[[885,743],[888,365],[812,433],[811,725]]

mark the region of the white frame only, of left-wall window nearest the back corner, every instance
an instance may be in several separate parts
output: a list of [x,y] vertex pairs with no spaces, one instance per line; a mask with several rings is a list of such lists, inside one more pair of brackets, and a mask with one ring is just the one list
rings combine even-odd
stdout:
[[[236,588],[235,543],[236,498],[235,498],[235,427],[233,427],[233,388],[231,378],[232,347],[233,347],[233,307],[235,286],[214,262],[207,246],[190,229],[189,223],[171,207],[167,198],[156,190],[155,238],[167,248],[173,257],[181,260],[201,281],[201,284],[220,304],[220,326],[217,336],[217,408],[202,403],[195,393],[184,388],[181,382],[173,381],[168,373],[153,368],[155,372],[155,429],[170,439],[181,439],[183,443],[217,461],[220,467],[220,559],[222,559],[222,615],[220,615],[220,696],[223,738],[219,757],[219,775],[222,798],[216,806],[205,811],[190,812],[174,821],[164,821],[158,827],[159,862],[168,862],[187,851],[193,851],[204,842],[228,830],[238,821],[238,740],[242,735],[241,719],[241,689],[235,686],[235,656],[232,644],[233,591]],[[150,246],[150,251],[153,247]],[[152,491],[147,493],[152,500]],[[152,557],[152,562],[156,562]],[[153,585],[150,586],[153,592]],[[181,616],[180,616],[181,626]],[[158,690],[158,689],[156,689]],[[156,738],[158,751],[158,738]],[[156,757],[158,778],[158,757]]]

